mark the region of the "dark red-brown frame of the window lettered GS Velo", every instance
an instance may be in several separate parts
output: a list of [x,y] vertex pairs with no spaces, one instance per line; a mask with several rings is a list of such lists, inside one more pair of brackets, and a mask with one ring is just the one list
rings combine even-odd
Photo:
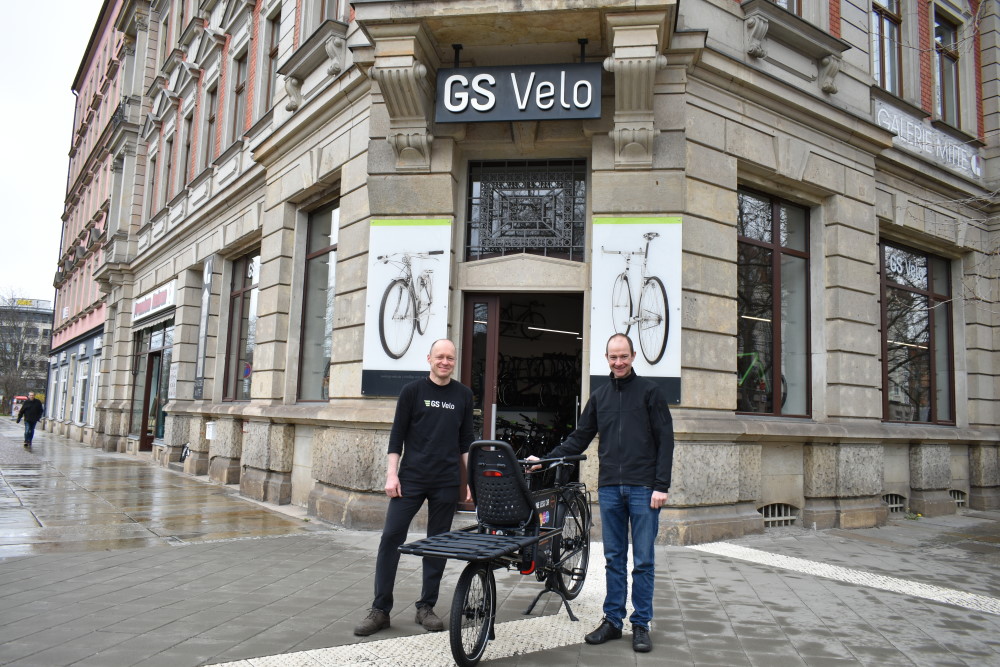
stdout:
[[[924,258],[927,267],[927,287],[926,288],[916,288],[911,285],[904,285],[899,282],[892,281],[888,278],[888,271],[886,269],[886,247],[895,248],[901,252],[909,253],[912,255],[919,255]],[[957,403],[955,401],[955,333],[954,333],[954,323],[955,323],[955,313],[953,305],[953,294],[954,286],[951,280],[951,260],[940,255],[934,255],[932,253],[924,252],[912,246],[908,246],[903,243],[898,243],[888,239],[883,239],[878,245],[879,254],[879,311],[880,311],[880,345],[881,345],[881,370],[882,370],[882,421],[897,424],[934,424],[941,426],[955,426],[957,424],[957,416],[955,410],[957,408]],[[941,264],[944,268],[944,280],[947,283],[948,292],[942,293],[935,291],[934,284],[937,276],[935,275],[934,264]],[[916,294],[918,296],[927,299],[927,331],[928,331],[928,374],[929,374],[929,388],[928,394],[931,397],[930,400],[930,412],[929,419],[927,420],[904,420],[904,419],[891,419],[890,418],[890,387],[889,387],[889,308],[888,308],[888,290],[894,289],[902,292],[907,292],[911,294]],[[945,348],[940,349],[939,342],[936,340],[936,319],[940,316],[938,307],[944,306],[943,310],[940,312],[946,313],[945,317],[945,331],[947,332],[948,340],[945,341]],[[947,355],[949,361],[948,368],[948,411],[950,418],[940,419],[940,405],[937,400],[937,394],[939,388],[937,386],[938,377],[938,364],[937,356],[939,353],[943,352]]]

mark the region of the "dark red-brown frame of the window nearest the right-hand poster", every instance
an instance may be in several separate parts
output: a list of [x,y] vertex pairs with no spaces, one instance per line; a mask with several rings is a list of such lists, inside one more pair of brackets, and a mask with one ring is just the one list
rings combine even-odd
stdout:
[[[740,415],[755,415],[755,416],[769,416],[769,417],[787,417],[795,419],[809,419],[812,417],[812,312],[811,312],[811,302],[812,302],[812,289],[810,284],[810,275],[812,270],[812,260],[810,253],[810,238],[812,236],[811,226],[811,210],[808,206],[803,206],[797,204],[793,201],[782,199],[780,197],[770,195],[766,192],[760,190],[755,190],[750,187],[740,186],[737,189],[737,216],[739,216],[739,207],[741,204],[741,199],[743,195],[753,197],[759,200],[765,200],[770,206],[770,218],[771,218],[771,238],[769,241],[761,241],[753,237],[742,236],[739,233],[739,228],[736,230],[736,242],[737,242],[737,293],[739,293],[739,281],[740,281],[740,263],[739,263],[739,246],[741,244],[757,247],[766,250],[770,253],[770,278],[771,278],[771,344],[768,353],[771,355],[771,368],[770,368],[770,378],[768,378],[771,386],[771,411],[755,411],[755,410],[741,410],[740,399],[739,399],[739,382],[740,382],[740,364],[739,356],[737,356],[737,405],[736,413]],[[802,211],[803,221],[802,221],[802,233],[804,235],[803,247],[805,250],[797,250],[795,248],[784,246],[781,244],[780,234],[781,234],[781,224],[780,215],[783,206],[794,207]],[[802,340],[804,342],[804,357],[805,357],[805,377],[803,382],[805,384],[805,411],[803,413],[793,413],[784,411],[784,401],[778,401],[777,397],[780,396],[782,382],[784,380],[784,375],[782,373],[783,364],[783,302],[781,300],[782,292],[782,260],[785,257],[792,257],[801,259],[805,266],[805,280],[803,295],[803,302],[805,305],[804,312],[804,328],[802,332]],[[739,354],[739,341],[741,337],[741,324],[740,319],[742,317],[747,317],[748,319],[753,319],[751,316],[743,316],[740,314],[740,302],[737,299],[737,322],[736,322],[736,338],[737,338],[737,354]]]

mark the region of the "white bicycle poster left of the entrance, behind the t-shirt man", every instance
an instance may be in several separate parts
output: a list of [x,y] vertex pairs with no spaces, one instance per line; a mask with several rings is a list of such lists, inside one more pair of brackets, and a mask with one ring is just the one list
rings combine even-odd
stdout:
[[451,220],[372,220],[361,393],[396,396],[427,375],[448,334]]

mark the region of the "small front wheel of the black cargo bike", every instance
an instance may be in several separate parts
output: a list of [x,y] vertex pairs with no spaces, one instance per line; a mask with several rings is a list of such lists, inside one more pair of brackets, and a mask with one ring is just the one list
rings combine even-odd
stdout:
[[460,667],[474,667],[483,657],[493,632],[496,591],[493,570],[472,561],[462,570],[451,601],[451,656]]

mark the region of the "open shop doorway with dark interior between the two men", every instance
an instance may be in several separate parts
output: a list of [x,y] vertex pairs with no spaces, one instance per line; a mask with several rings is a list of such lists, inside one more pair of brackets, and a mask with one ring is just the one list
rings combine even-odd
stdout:
[[583,295],[467,294],[462,382],[475,436],[519,457],[544,454],[576,426],[583,377]]

